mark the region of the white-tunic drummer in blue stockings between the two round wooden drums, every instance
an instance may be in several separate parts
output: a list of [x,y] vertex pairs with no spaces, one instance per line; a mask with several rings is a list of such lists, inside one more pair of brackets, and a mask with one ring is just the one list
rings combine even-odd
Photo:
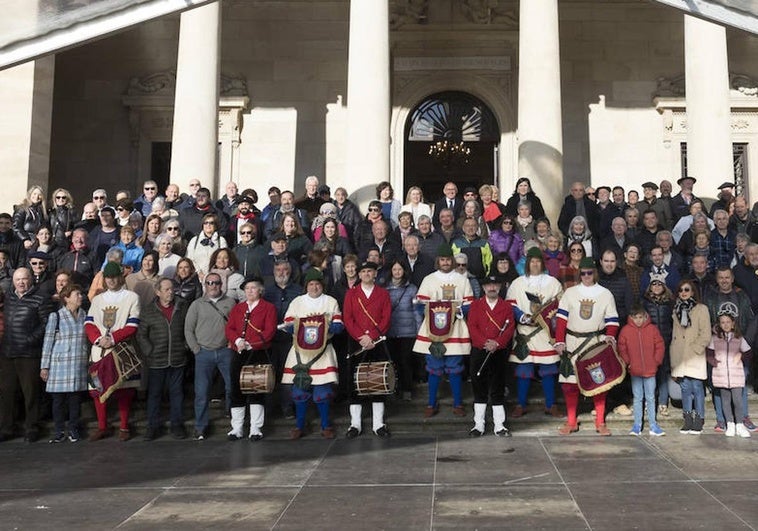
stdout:
[[305,435],[305,413],[313,400],[321,417],[321,436],[334,439],[329,420],[329,403],[337,383],[337,355],[331,338],[345,329],[337,300],[324,294],[324,274],[309,269],[305,274],[305,294],[287,308],[284,323],[294,334],[292,348],[284,364],[283,384],[292,384],[295,428],[291,439]]

